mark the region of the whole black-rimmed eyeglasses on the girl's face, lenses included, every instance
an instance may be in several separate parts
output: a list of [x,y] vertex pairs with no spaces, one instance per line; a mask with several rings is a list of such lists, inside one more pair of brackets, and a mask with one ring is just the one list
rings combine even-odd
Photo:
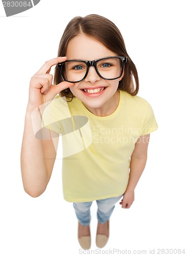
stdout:
[[57,67],[60,68],[61,75],[67,82],[83,81],[91,66],[95,68],[101,78],[114,80],[122,76],[126,61],[125,56],[111,56],[95,60],[69,59],[58,63]]

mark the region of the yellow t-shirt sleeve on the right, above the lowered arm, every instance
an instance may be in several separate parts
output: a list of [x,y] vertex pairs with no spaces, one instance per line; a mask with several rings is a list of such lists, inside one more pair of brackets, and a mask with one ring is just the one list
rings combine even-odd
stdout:
[[154,116],[154,112],[152,110],[151,105],[147,102],[146,115],[144,119],[143,131],[141,135],[152,133],[156,131],[157,128],[158,128],[158,125]]

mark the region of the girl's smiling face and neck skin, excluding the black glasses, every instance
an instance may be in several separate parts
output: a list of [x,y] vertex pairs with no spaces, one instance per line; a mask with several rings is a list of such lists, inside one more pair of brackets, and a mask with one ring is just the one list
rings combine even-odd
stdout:
[[[95,60],[116,56],[116,54],[93,37],[79,34],[69,41],[66,56],[67,59]],[[109,115],[115,111],[119,103],[117,89],[123,75],[124,73],[115,80],[104,80],[91,66],[87,77],[83,81],[75,83],[70,90],[92,113]]]

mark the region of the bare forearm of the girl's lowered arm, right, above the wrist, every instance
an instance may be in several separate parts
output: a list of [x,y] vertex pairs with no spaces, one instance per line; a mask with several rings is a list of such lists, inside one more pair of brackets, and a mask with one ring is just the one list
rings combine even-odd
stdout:
[[147,156],[143,158],[132,157],[130,160],[130,173],[129,173],[129,181],[128,186],[126,188],[127,191],[135,190],[136,185],[143,173],[147,161]]

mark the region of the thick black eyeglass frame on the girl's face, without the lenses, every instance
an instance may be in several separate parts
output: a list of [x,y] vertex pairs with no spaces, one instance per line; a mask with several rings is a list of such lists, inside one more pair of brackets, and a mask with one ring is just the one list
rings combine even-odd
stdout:
[[[119,58],[119,59],[121,60],[121,63],[122,63],[122,66],[121,66],[121,74],[120,74],[118,77],[115,77],[115,78],[104,78],[103,76],[101,76],[101,75],[99,74],[99,71],[98,71],[98,69],[97,69],[97,62],[98,62],[99,60],[102,60],[102,59],[109,59],[109,58]],[[69,80],[67,80],[67,79],[64,77],[62,67],[63,67],[64,63],[69,62],[69,61],[81,61],[81,62],[84,62],[84,63],[86,64],[87,70],[86,70],[86,73],[85,73],[85,76],[83,77],[83,79],[78,80],[78,81],[69,81]],[[104,58],[95,59],[95,60],[67,59],[67,60],[65,60],[65,61],[63,61],[63,62],[58,63],[58,64],[57,64],[57,67],[60,69],[61,75],[62,75],[64,81],[66,81],[66,82],[76,83],[76,82],[81,82],[81,81],[83,81],[83,80],[87,77],[90,67],[94,67],[95,70],[96,70],[96,72],[97,72],[97,74],[98,74],[99,77],[101,77],[102,79],[104,79],[104,80],[115,80],[115,79],[118,79],[118,78],[120,78],[120,77],[122,76],[123,70],[124,70],[124,64],[125,64],[126,61],[127,61],[127,57],[126,57],[126,56],[110,56],[110,57],[104,57]]]

